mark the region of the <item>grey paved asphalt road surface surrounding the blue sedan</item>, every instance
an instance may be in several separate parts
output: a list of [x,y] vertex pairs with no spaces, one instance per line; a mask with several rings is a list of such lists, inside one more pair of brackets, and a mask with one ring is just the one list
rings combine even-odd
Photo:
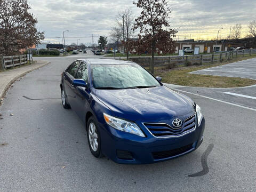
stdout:
[[94,158],[84,125],[61,106],[60,74],[76,57],[42,58],[52,63],[7,92],[0,191],[255,191],[256,111],[195,94],[185,93],[202,107],[206,128],[193,153],[148,165]]

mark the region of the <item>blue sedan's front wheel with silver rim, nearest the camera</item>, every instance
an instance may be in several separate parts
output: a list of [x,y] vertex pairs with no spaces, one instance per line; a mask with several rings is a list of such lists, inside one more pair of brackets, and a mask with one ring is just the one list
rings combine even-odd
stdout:
[[94,157],[102,157],[101,140],[98,125],[91,116],[87,122],[87,140],[91,153]]

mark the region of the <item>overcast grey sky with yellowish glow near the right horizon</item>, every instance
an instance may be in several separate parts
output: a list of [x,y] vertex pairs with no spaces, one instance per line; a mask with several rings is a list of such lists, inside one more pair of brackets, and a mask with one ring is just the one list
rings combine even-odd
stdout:
[[[171,25],[179,28],[180,39],[216,38],[218,29],[223,27],[220,36],[229,36],[230,26],[241,23],[242,35],[247,34],[249,21],[256,20],[256,1],[249,0],[185,0],[168,1],[173,12]],[[115,25],[118,11],[133,7],[135,15],[140,10],[132,0],[29,0],[31,12],[38,19],[38,28],[45,31],[45,41],[60,42],[63,30],[66,44],[92,43],[94,36],[108,36]],[[89,37],[90,38],[86,38]],[[75,38],[69,38],[75,37]],[[178,36],[177,36],[178,37]],[[94,42],[98,38],[94,37]]]

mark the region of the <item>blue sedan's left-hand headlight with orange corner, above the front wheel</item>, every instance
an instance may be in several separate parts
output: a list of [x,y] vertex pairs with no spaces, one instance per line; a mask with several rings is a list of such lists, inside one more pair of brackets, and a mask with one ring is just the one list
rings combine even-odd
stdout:
[[112,117],[105,113],[103,113],[103,116],[106,123],[109,124],[111,127],[114,127],[115,129],[120,131],[139,135],[140,137],[145,137],[145,134],[141,131],[140,127],[138,127],[137,124],[116,117]]

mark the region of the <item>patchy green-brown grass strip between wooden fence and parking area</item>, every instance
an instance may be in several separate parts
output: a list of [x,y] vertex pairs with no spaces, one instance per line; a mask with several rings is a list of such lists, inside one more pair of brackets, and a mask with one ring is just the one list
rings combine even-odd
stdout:
[[228,63],[242,61],[245,59],[255,58],[254,56],[248,57],[238,57],[232,60],[221,62],[221,63],[206,63],[202,66],[191,66],[191,67],[178,67],[175,69],[168,69],[166,67],[156,67],[155,76],[161,76],[164,83],[170,83],[175,85],[184,86],[195,86],[195,87],[243,87],[255,85],[256,80],[239,78],[239,77],[222,77],[222,76],[212,76],[212,75],[197,75],[188,74],[189,72],[207,69],[211,67],[226,65]]

